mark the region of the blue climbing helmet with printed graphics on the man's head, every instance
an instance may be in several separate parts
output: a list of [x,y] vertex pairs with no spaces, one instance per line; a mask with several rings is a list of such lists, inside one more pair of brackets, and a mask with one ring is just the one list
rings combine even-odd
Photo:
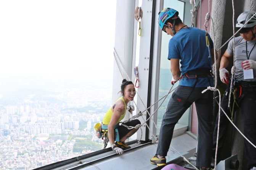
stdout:
[[161,30],[163,30],[163,27],[165,25],[165,22],[171,18],[176,19],[179,15],[179,12],[172,9],[172,8],[164,8],[161,12],[159,12],[158,17],[158,24]]

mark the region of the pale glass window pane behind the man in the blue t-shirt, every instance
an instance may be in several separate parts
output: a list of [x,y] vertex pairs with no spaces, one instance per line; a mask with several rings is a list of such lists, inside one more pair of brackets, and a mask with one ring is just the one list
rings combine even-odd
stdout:
[[[179,11],[179,17],[183,21],[184,4],[185,4],[184,2],[181,2],[179,0],[164,0],[163,8],[169,7],[169,8],[174,8],[175,10]],[[167,35],[165,32],[162,32],[159,99],[161,99],[164,95],[166,95],[172,86],[171,85],[171,80],[172,80],[171,62],[167,59],[168,43],[169,43],[170,38],[172,38],[170,35]],[[177,86],[178,86],[178,83],[175,83],[173,89]],[[158,132],[157,132],[157,134],[159,134],[163,114],[166,111],[166,107],[169,102],[169,99],[171,98],[171,95],[172,95],[172,93],[168,95],[168,97],[164,101],[163,105],[158,110],[158,116],[157,116]],[[161,102],[162,102],[162,100],[158,103],[158,105],[161,104]],[[188,115],[189,115],[189,109],[184,113],[182,118],[180,118],[179,122],[175,126],[175,129],[179,129],[179,128],[188,126]]]

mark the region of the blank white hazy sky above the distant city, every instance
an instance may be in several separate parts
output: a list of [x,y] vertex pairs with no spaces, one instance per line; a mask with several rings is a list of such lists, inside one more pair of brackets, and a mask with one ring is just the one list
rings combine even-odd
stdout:
[[0,1],[0,78],[112,77],[115,15],[116,0]]

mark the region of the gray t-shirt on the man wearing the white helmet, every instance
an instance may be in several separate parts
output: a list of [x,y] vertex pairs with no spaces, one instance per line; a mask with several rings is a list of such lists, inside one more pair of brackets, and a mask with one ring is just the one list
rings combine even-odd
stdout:
[[[233,56],[233,38],[229,41],[229,45],[227,46],[227,52]],[[247,54],[250,60],[256,61],[256,45],[254,44],[256,41],[247,41]],[[243,78],[243,68],[242,62],[247,60],[246,57],[246,41],[241,36],[235,37],[235,78],[238,80],[244,80]],[[253,48],[254,46],[254,48]],[[253,50],[251,51],[251,49]],[[256,81],[256,70],[253,70],[253,77],[254,79],[246,79],[246,81]]]

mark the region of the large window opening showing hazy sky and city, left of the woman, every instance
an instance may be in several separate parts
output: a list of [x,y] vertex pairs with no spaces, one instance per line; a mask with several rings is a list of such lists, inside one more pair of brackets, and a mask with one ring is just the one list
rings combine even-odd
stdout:
[[93,126],[112,104],[115,17],[115,0],[0,2],[0,169],[103,148]]

